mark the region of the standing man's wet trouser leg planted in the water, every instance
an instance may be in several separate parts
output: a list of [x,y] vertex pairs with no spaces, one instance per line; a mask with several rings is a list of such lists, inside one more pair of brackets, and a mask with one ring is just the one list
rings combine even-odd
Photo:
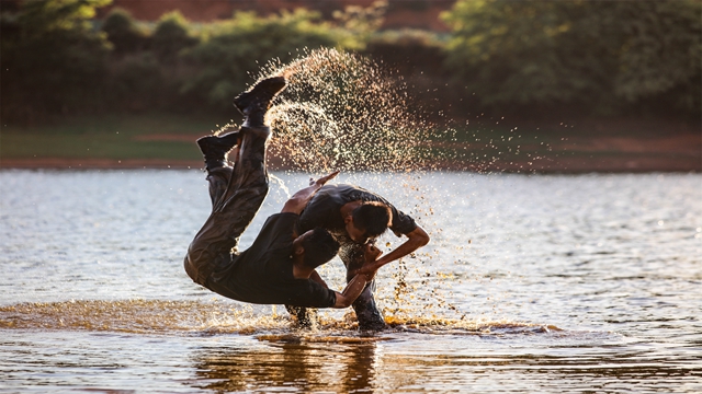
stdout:
[[[365,262],[363,258],[363,245],[344,242],[339,250],[339,257],[347,267],[347,273],[359,269]],[[353,279],[353,277],[347,274],[347,281],[351,279]],[[380,331],[385,328],[385,318],[381,311],[378,311],[375,299],[373,298],[374,291],[375,280],[366,285],[361,296],[359,296],[352,304],[355,316],[359,320],[359,328],[361,329]]]

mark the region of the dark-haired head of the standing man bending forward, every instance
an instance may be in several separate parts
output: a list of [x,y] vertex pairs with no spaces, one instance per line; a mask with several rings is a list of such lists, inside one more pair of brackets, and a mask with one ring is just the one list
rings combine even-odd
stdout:
[[377,201],[363,202],[347,217],[346,228],[351,240],[365,243],[382,235],[393,219],[390,209]]

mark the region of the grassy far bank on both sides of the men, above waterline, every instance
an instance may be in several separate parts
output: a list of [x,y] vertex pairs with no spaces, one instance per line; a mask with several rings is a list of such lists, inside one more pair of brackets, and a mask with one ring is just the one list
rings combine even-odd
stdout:
[[[148,114],[4,126],[0,167],[201,167],[194,140],[227,119]],[[427,141],[430,165],[506,172],[702,171],[702,137],[689,124],[588,119],[574,124],[474,119]],[[272,169],[283,169],[269,158]]]

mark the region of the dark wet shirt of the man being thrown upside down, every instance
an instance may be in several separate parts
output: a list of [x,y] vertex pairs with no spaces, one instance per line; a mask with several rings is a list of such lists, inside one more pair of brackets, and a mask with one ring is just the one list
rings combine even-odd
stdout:
[[290,212],[268,218],[251,247],[233,254],[231,264],[213,273],[207,281],[210,290],[250,303],[333,306],[333,290],[293,276],[293,229],[297,219]]

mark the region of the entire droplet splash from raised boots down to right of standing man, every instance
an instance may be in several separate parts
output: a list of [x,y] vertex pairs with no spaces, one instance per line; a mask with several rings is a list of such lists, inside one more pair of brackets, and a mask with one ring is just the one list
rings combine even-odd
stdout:
[[[450,166],[457,169],[489,171],[502,165],[501,159],[508,154],[519,153],[519,144],[506,144],[512,143],[517,132],[512,129],[499,138],[491,131],[473,134],[469,142],[461,146],[463,157],[457,157],[451,146],[456,131],[427,120],[401,77],[359,55],[335,49],[304,51],[290,63],[268,63],[258,80],[272,76],[284,76],[288,81],[268,114],[273,129],[269,159],[278,159],[272,167],[310,174],[341,170],[352,174],[354,182],[350,183],[381,195],[392,188],[395,196],[401,195],[404,206],[398,208],[417,219],[432,239],[442,227],[433,222],[437,218],[431,206],[431,194],[439,192],[421,185],[427,170],[452,162]],[[489,139],[482,141],[486,136]],[[444,149],[446,143],[450,149]],[[461,164],[461,160],[465,162]],[[387,172],[396,174],[393,184],[374,178],[374,174]],[[382,243],[392,250],[389,237]],[[441,245],[432,246],[417,251],[410,267],[404,260],[395,263],[392,282],[378,286],[376,299],[382,300],[389,318],[423,314],[465,318],[465,312],[445,301],[450,294],[444,290],[450,286],[431,268]]]

